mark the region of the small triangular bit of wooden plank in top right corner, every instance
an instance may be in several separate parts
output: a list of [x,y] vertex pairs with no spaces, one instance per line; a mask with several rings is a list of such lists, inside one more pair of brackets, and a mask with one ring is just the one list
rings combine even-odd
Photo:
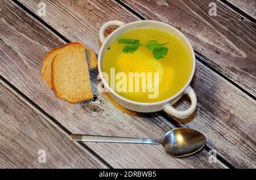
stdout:
[[245,12],[247,15],[256,19],[256,1],[251,0],[226,0],[233,6],[236,6],[241,11]]

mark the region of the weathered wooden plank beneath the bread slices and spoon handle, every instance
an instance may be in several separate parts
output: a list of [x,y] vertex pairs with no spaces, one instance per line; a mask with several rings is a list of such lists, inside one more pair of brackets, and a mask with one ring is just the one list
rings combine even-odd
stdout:
[[[0,30],[1,75],[72,133],[160,138],[174,127],[154,114],[144,117],[127,111],[102,94],[98,94],[96,101],[75,105],[58,100],[44,82],[40,69],[43,56],[53,46],[51,41],[61,45],[63,40],[12,2],[1,2]],[[91,76],[92,87],[96,89],[97,72]],[[86,144],[114,168],[225,167],[218,161],[210,164],[206,150],[188,158],[172,158],[155,145]]]

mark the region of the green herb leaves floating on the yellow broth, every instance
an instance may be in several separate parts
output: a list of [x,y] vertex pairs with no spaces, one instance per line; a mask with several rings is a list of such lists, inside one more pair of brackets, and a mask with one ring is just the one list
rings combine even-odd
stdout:
[[168,48],[165,47],[169,42],[160,44],[156,40],[148,41],[146,45],[142,45],[139,40],[135,40],[133,38],[122,38],[118,40],[119,44],[126,44],[126,46],[122,49],[123,53],[134,53],[141,46],[146,46],[148,50],[150,50],[155,59],[162,59],[168,53]]

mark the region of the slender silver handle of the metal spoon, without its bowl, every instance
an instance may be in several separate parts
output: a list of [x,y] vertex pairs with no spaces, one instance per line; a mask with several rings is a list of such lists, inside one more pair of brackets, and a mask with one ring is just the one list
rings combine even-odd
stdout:
[[72,134],[69,137],[72,141],[79,142],[102,142],[102,143],[137,143],[137,144],[159,144],[159,140],[154,139],[138,139],[138,138],[122,138],[113,136],[93,136]]

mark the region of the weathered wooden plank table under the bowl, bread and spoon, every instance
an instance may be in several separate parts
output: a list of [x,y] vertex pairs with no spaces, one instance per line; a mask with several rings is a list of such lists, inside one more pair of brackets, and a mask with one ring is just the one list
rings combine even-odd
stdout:
[[[208,14],[211,2],[217,16]],[[0,168],[256,168],[255,9],[248,0],[1,1]],[[71,41],[98,53],[98,31],[113,19],[159,20],[189,38],[196,53],[195,113],[178,119],[122,108],[96,92],[97,71],[90,72],[93,101],[56,98],[40,72],[44,55]],[[188,106],[186,97],[175,105]],[[158,145],[68,139],[71,133],[158,139],[175,127],[203,132],[203,151],[172,158]],[[44,152],[46,163],[39,161]]]

